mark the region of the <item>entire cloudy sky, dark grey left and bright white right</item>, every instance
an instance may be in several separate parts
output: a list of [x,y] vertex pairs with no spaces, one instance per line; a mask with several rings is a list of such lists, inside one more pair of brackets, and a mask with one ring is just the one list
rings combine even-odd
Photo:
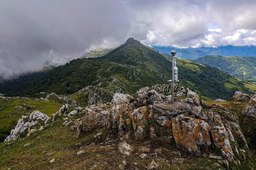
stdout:
[[0,79],[129,37],[180,48],[256,45],[256,1],[0,0]]

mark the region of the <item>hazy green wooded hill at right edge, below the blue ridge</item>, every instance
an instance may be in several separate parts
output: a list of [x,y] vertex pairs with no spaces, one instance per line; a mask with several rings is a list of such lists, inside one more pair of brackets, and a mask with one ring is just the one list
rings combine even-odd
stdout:
[[207,64],[220,68],[234,76],[243,79],[256,79],[256,58],[255,57],[222,57],[205,56],[194,59],[194,62]]

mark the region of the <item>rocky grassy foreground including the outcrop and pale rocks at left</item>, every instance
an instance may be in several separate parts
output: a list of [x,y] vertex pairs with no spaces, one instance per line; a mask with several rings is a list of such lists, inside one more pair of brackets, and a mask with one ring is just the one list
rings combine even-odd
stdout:
[[142,88],[110,105],[33,111],[0,143],[1,169],[254,170],[256,95],[212,102],[181,90],[174,103]]

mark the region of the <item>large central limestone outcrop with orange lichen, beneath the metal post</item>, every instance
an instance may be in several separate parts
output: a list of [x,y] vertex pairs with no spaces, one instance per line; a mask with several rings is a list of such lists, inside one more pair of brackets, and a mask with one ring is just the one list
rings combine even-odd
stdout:
[[220,104],[208,108],[192,91],[188,91],[187,96],[187,99],[172,103],[164,94],[147,87],[138,91],[137,101],[128,94],[116,93],[109,110],[102,106],[87,108],[83,129],[103,127],[105,122],[107,130],[117,132],[122,141],[174,142],[178,148],[195,155],[214,147],[222,153],[216,156],[234,162],[234,152],[243,149],[241,147],[247,148],[237,116]]

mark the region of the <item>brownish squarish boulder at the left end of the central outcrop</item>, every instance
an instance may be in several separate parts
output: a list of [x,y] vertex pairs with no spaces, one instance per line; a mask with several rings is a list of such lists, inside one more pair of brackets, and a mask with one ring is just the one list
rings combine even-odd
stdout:
[[103,127],[109,109],[105,105],[91,105],[84,110],[83,130],[89,132],[96,127]]

